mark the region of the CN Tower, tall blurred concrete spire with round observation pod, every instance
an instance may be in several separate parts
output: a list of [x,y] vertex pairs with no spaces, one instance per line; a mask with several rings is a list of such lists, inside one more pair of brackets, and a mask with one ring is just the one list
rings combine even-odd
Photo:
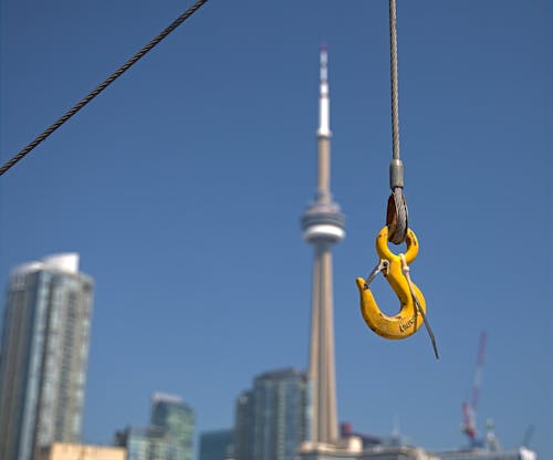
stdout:
[[303,238],[315,249],[311,313],[311,442],[335,443],[338,439],[336,375],[334,370],[334,318],[331,247],[345,237],[345,219],[331,195],[331,128],[327,52],[321,48],[321,93],[317,137],[317,188],[302,217]]

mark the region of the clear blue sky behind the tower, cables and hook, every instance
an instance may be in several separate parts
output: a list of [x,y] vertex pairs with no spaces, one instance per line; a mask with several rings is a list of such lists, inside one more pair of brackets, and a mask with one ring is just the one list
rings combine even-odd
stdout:
[[[452,448],[489,334],[479,428],[535,427],[553,458],[552,11],[545,0],[398,2],[401,157],[424,332],[390,342],[359,311],[392,155],[386,0],[211,0],[0,179],[0,276],[79,251],[96,281],[84,439],[145,425],[155,390],[197,429],[230,427],[254,375],[305,368],[319,46],[328,45],[338,412]],[[7,160],[190,4],[1,3]],[[394,312],[385,282],[375,285]]]

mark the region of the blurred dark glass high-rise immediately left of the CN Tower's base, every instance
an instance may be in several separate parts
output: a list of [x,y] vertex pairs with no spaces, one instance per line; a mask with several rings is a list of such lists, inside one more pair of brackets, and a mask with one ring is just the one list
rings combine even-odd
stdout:
[[257,376],[237,402],[236,459],[293,460],[309,436],[309,411],[305,373],[286,368]]

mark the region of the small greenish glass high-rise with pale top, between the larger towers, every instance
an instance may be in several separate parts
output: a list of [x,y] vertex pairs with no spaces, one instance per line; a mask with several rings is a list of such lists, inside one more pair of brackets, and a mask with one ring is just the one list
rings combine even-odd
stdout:
[[182,398],[156,393],[152,397],[152,425],[167,431],[177,460],[191,460],[194,440],[194,410]]

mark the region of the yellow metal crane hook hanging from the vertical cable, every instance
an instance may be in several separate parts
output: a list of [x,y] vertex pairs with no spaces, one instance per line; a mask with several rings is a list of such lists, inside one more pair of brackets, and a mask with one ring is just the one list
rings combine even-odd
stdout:
[[[385,338],[399,339],[415,334],[422,325],[426,313],[425,297],[420,290],[410,282],[406,271],[408,264],[418,254],[418,241],[415,232],[409,228],[406,237],[407,251],[405,254],[394,254],[388,248],[388,227],[384,227],[376,238],[376,252],[380,263],[368,280],[357,278],[357,288],[361,295],[361,312],[368,327]],[[384,314],[378,307],[373,292],[368,288],[372,279],[382,271],[389,285],[399,299],[400,309],[395,316]],[[409,286],[410,284],[410,286]],[[419,303],[420,311],[415,304]],[[419,312],[421,314],[419,314]]]

